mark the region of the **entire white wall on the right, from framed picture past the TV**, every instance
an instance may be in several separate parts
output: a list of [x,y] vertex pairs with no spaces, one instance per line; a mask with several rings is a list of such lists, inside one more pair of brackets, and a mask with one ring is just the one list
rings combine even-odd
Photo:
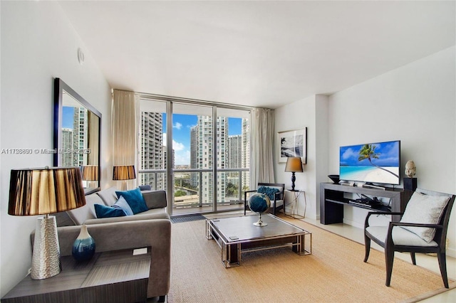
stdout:
[[[414,160],[419,187],[456,193],[455,55],[455,47],[447,48],[329,97],[315,95],[276,109],[276,132],[308,127],[308,164],[304,174],[296,174],[296,188],[307,193],[306,216],[319,218],[319,184],[338,174],[343,145],[399,139],[402,176],[405,163]],[[275,175],[276,182],[291,184],[284,164],[275,164]],[[347,206],[344,222],[362,228],[366,213]],[[447,250],[453,257],[455,213]]]

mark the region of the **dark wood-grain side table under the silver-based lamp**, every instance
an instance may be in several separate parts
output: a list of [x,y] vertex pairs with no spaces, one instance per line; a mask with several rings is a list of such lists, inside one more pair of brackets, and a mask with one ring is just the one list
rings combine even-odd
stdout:
[[2,303],[26,302],[146,302],[150,272],[150,248],[98,252],[86,262],[61,257],[62,271],[44,280],[30,275],[2,299]]

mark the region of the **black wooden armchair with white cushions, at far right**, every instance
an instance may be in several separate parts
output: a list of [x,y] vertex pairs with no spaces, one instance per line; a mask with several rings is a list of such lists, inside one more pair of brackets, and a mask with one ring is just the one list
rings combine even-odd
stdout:
[[394,252],[410,252],[413,265],[416,265],[415,252],[436,253],[443,285],[448,288],[446,238],[448,221],[455,195],[426,191],[417,188],[408,201],[400,222],[390,222],[388,226],[371,226],[369,218],[385,213],[370,212],[364,223],[364,243],[368,261],[371,240],[385,249],[386,286],[390,286],[393,272]]

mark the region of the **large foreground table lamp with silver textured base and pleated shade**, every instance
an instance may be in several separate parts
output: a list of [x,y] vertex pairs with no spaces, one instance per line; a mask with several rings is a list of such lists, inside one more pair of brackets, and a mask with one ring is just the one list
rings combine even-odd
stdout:
[[42,280],[61,272],[56,217],[50,213],[70,211],[86,205],[78,167],[12,169],[8,213],[36,216],[31,278]]

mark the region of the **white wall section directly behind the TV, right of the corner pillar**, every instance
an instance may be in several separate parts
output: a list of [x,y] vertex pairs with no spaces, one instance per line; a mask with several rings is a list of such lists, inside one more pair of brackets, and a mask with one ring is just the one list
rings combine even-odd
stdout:
[[[455,47],[392,70],[329,97],[328,174],[343,145],[401,141],[401,176],[415,161],[418,187],[456,193]],[[456,211],[449,255],[456,256]],[[363,226],[366,211],[346,207],[344,222]]]

